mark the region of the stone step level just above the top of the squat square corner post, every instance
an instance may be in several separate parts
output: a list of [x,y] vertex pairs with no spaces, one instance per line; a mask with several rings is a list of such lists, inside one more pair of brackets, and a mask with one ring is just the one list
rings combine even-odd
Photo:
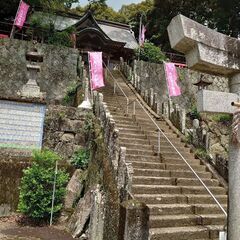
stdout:
[[[226,190],[222,187],[210,186],[209,190],[213,194],[224,195]],[[172,185],[143,185],[133,184],[133,194],[206,194],[207,191],[202,186],[172,186]]]

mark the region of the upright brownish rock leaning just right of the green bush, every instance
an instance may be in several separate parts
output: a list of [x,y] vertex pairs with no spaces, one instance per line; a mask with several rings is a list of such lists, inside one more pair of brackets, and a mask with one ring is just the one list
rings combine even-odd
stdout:
[[81,174],[82,171],[77,169],[67,185],[66,196],[63,205],[65,209],[73,207],[73,204],[76,202],[83,190],[83,185],[80,180]]

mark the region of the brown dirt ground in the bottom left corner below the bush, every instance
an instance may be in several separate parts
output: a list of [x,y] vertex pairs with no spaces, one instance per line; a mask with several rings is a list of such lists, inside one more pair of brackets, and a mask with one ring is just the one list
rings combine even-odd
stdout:
[[31,226],[19,216],[0,218],[1,240],[71,240],[72,236],[53,226]]

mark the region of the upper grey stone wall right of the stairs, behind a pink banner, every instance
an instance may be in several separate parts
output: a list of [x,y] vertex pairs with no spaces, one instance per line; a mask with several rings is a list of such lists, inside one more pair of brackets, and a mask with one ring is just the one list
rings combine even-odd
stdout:
[[[136,88],[141,95],[150,93],[156,94],[156,101],[162,105],[168,100],[168,90],[166,85],[163,64],[135,61],[132,67],[121,63],[122,70],[128,80],[135,82]],[[186,68],[178,68],[179,85],[182,95],[172,97],[172,101],[180,107],[189,108],[196,100],[197,87],[193,85],[200,79],[200,73]],[[223,77],[217,77],[209,74],[203,74],[203,78],[213,82],[209,90],[229,92],[228,80]]]

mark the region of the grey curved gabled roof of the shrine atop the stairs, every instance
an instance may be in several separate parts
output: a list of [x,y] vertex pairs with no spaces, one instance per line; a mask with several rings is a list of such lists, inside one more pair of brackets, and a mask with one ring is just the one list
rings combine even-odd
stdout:
[[74,17],[50,15],[43,12],[35,12],[34,16],[40,16],[45,23],[51,21],[55,29],[59,31],[63,31],[71,26],[75,26],[78,29],[84,22],[90,20],[93,25],[89,27],[95,27],[100,30],[109,40],[125,43],[124,48],[127,49],[138,48],[138,43],[129,25],[106,20],[97,20],[94,18],[91,11],[87,11],[83,16],[75,15]]

